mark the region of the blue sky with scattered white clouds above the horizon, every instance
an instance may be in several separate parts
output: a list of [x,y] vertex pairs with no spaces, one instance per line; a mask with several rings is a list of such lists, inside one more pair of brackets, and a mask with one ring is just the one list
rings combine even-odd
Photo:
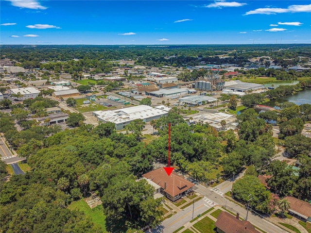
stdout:
[[0,0],[0,43],[311,43],[310,0]]

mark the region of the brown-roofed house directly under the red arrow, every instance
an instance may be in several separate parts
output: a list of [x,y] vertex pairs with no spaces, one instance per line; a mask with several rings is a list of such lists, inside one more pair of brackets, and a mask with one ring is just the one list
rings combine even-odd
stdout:
[[160,192],[172,201],[189,194],[194,186],[193,183],[185,180],[174,171],[168,176],[163,167],[150,171],[142,176],[158,184],[161,187]]

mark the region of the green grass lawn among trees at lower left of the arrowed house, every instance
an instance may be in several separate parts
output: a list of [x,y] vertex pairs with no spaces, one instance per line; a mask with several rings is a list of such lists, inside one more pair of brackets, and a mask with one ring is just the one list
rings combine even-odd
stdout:
[[101,227],[103,232],[106,232],[105,227],[106,216],[104,216],[102,205],[98,205],[95,208],[91,209],[84,200],[78,200],[71,202],[71,204],[68,206],[68,209],[82,211],[94,222],[95,225]]

